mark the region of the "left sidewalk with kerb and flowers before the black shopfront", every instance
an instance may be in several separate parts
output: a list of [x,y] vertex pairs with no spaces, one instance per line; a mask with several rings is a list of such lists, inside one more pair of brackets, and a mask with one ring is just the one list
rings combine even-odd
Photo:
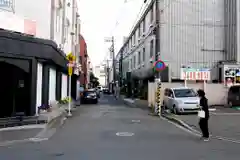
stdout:
[[[71,111],[77,109],[76,103],[71,104]],[[0,129],[0,146],[11,143],[25,142],[38,139],[50,138],[57,129],[64,124],[67,117],[68,105],[54,105],[51,112],[44,112],[38,115],[39,121],[45,124],[23,125]]]

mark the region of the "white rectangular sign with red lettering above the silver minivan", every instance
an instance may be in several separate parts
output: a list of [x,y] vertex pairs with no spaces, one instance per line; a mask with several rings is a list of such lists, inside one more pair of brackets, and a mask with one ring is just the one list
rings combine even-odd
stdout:
[[182,80],[211,80],[210,69],[181,68]]

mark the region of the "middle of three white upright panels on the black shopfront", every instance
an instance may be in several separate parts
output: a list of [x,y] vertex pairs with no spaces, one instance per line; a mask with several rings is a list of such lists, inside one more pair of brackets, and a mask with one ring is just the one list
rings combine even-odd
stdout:
[[56,70],[49,70],[49,102],[56,101]]

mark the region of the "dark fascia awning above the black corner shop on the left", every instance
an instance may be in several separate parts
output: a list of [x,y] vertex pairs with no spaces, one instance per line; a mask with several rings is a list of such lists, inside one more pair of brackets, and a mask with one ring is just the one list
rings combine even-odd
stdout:
[[0,30],[0,55],[14,54],[52,61],[58,66],[67,67],[63,51],[51,40],[35,38],[23,33]]

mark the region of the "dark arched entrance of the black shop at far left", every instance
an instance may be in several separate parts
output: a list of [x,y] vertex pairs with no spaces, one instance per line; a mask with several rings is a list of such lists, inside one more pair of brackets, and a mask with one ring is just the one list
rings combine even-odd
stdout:
[[22,69],[0,62],[0,117],[14,116],[16,112],[29,114],[30,79]]

